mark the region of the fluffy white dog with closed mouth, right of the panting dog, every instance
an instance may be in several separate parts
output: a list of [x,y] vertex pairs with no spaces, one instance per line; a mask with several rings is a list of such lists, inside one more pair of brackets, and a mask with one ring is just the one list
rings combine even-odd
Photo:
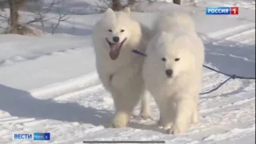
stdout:
[[187,14],[161,16],[146,50],[143,79],[160,110],[158,124],[183,133],[198,122],[204,46]]

